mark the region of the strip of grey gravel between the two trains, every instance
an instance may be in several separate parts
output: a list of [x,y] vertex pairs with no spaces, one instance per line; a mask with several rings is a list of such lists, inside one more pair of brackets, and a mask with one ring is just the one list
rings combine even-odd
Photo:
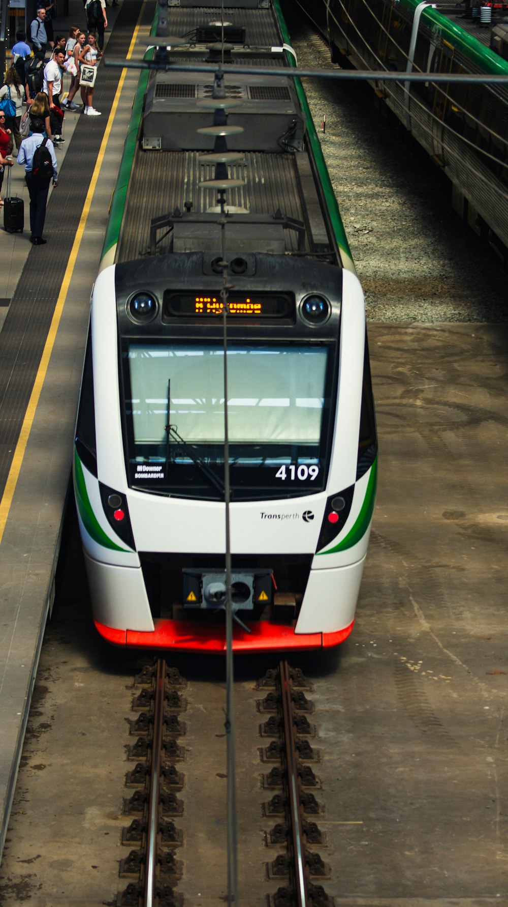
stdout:
[[[322,39],[290,22],[298,63],[330,69]],[[451,209],[451,184],[359,83],[304,80],[370,321],[484,322],[508,315],[507,275]],[[399,132],[399,136],[397,132]]]

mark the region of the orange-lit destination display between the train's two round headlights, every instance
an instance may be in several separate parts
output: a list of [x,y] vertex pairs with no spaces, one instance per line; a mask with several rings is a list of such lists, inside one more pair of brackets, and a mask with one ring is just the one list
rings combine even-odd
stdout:
[[[294,301],[282,293],[230,293],[227,307],[227,317],[287,318],[292,315]],[[164,294],[167,317],[214,317],[222,312],[223,301],[217,292]]]

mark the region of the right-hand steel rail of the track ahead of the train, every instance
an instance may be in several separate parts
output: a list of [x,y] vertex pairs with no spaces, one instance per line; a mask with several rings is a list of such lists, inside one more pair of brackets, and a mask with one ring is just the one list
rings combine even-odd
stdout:
[[302,814],[300,812],[300,796],[298,792],[298,756],[296,753],[294,726],[292,723],[291,681],[289,676],[289,664],[287,661],[281,661],[279,664],[279,679],[283,707],[284,748],[288,780],[296,903],[298,904],[298,907],[307,907],[308,879],[305,856],[303,853]]

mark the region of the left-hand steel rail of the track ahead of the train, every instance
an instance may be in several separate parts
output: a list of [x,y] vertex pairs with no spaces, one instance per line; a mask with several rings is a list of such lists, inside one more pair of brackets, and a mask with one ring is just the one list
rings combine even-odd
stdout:
[[164,687],[166,661],[159,658],[155,676],[154,720],[147,824],[147,855],[145,863],[144,907],[154,907],[157,899],[156,869],[159,821],[160,772],[162,768],[162,736],[164,727]]

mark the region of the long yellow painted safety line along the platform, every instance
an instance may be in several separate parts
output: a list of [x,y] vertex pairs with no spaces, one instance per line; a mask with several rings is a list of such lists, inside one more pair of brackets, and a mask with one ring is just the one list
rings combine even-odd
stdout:
[[[141,16],[143,15],[143,10],[144,10],[144,6],[145,6],[146,2],[147,2],[147,0],[143,0],[143,4],[141,5],[141,9],[139,10],[138,22],[136,24],[136,28],[134,29],[134,33],[132,34],[132,40],[129,44],[129,52],[127,54],[128,60],[130,59],[130,56],[132,55],[134,46],[136,44],[136,39],[138,37],[139,28],[141,25]],[[83,237],[83,233],[84,233],[84,230],[86,227],[86,222],[87,222],[88,215],[89,215],[90,209],[91,209],[91,200],[93,199],[93,193],[95,191],[95,186],[97,184],[97,180],[99,179],[99,173],[101,171],[101,163],[104,158],[104,154],[106,152],[106,145],[108,144],[108,139],[110,138],[111,128],[113,125],[113,121],[115,119],[115,113],[117,112],[117,107],[120,102],[121,89],[123,87],[123,83],[125,82],[126,75],[127,75],[127,70],[122,69],[118,88],[115,93],[113,103],[111,105],[110,116],[108,118],[108,124],[106,126],[106,131],[104,132],[104,136],[101,141],[101,148],[99,150],[99,154],[97,156],[97,161],[95,163],[95,168],[94,168],[94,171],[93,171],[93,174],[91,177],[90,187],[89,187],[89,190],[87,193],[85,203],[83,205],[83,210],[81,211],[80,223],[78,225],[78,229],[76,231],[76,236],[74,237],[74,242],[72,244],[71,255],[69,256],[67,268],[65,268],[65,274],[63,275],[62,286],[60,288],[60,293],[59,293],[58,299],[56,301],[56,307],[53,312],[52,323],[51,323],[50,329],[48,331],[48,336],[46,337],[46,342],[44,344],[43,356],[41,357],[41,362],[40,362],[39,368],[37,370],[37,375],[35,375],[34,387],[32,388],[32,394],[30,395],[30,400],[28,401],[28,405],[27,405],[25,413],[24,413],[23,424],[21,426],[19,438],[18,438],[16,447],[14,450],[13,462],[11,463],[11,468],[9,470],[9,474],[7,476],[7,481],[5,483],[4,494],[2,496],[2,501],[0,502],[0,542],[2,541],[2,539],[4,537],[5,524],[7,522],[7,518],[9,516],[9,512],[11,510],[11,505],[12,505],[13,497],[14,497],[14,491],[16,489],[16,485],[17,485],[18,478],[19,478],[19,473],[21,471],[21,465],[23,463],[24,452],[26,450],[26,444],[28,443],[28,437],[30,435],[31,428],[34,423],[35,411],[36,411],[37,405],[39,403],[39,397],[41,396],[41,392],[43,390],[44,379],[46,377],[46,372],[48,370],[51,355],[53,353],[54,341],[56,339],[58,327],[60,326],[60,321],[62,319],[63,304],[65,302],[65,298],[67,297],[67,293],[69,291],[69,286],[71,284],[72,271],[73,271],[74,265],[76,263],[76,258],[78,257],[78,253],[80,251],[81,239]]]

